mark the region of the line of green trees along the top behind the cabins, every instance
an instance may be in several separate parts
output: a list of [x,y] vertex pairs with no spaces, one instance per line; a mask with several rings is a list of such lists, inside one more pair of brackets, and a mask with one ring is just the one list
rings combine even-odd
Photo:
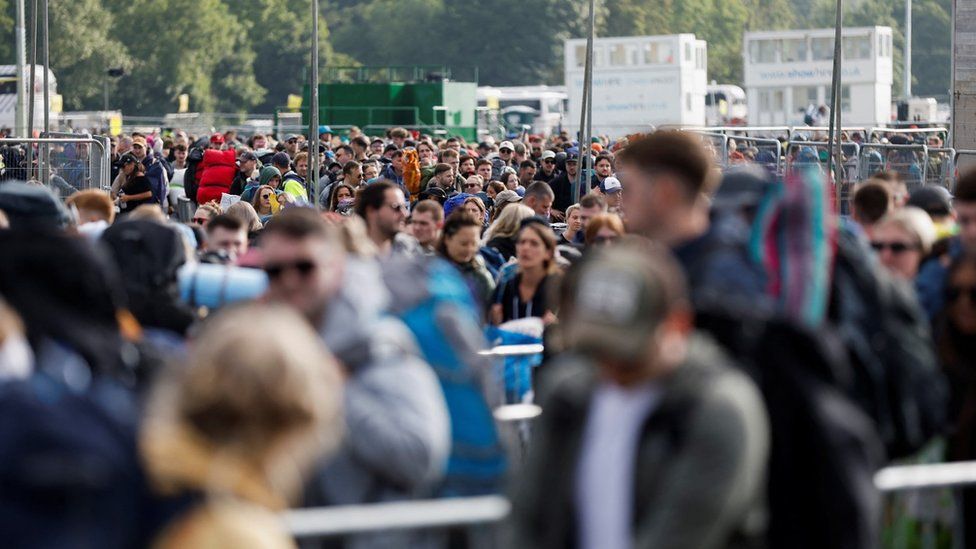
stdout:
[[[946,96],[951,0],[914,0],[913,90]],[[28,4],[29,11],[32,2]],[[848,26],[895,29],[902,82],[903,0],[847,3]],[[708,41],[708,77],[741,83],[748,30],[830,27],[834,0],[600,0],[598,36],[691,32]],[[583,0],[321,0],[324,66],[477,67],[484,85],[560,84],[563,41],[585,36]],[[300,93],[311,39],[310,0],[71,0],[50,3],[51,66],[65,110],[264,112]],[[28,29],[28,33],[29,33]],[[14,62],[14,0],[0,0],[0,63]],[[463,70],[461,71],[463,72]],[[470,71],[468,72],[470,73]],[[895,94],[897,95],[897,93]]]

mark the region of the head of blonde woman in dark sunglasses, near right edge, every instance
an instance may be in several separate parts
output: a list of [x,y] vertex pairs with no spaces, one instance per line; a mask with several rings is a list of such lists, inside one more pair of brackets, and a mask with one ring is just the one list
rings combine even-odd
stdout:
[[915,279],[934,242],[932,219],[912,206],[882,217],[871,231],[871,247],[881,264],[897,278],[907,281]]

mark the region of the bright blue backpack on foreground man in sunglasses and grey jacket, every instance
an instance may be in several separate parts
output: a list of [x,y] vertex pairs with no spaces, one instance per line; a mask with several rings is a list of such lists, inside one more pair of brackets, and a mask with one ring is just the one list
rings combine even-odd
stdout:
[[414,334],[437,375],[451,417],[451,455],[438,496],[498,493],[505,450],[485,399],[478,351],[486,347],[480,314],[461,274],[439,259],[395,257],[384,264],[390,310]]

